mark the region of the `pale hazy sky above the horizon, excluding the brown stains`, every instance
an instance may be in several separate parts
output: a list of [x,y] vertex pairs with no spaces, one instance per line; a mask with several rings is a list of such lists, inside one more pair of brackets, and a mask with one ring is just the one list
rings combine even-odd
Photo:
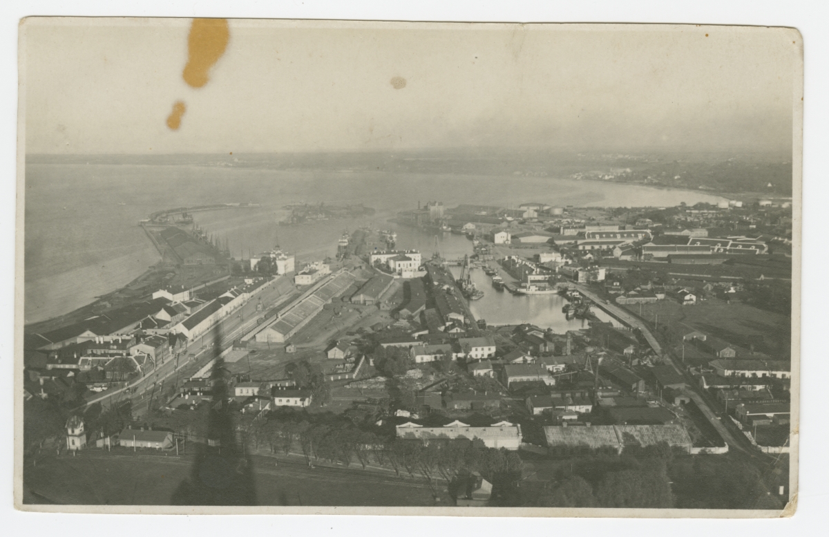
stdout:
[[793,31],[301,26],[231,20],[193,89],[188,20],[30,19],[27,152],[791,150]]

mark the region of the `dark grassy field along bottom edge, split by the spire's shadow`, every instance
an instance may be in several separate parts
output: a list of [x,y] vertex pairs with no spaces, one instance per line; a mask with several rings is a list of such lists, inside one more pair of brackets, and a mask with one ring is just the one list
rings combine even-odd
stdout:
[[[261,506],[434,506],[424,481],[358,466],[309,468],[301,459],[252,457]],[[25,503],[169,505],[190,477],[190,457],[82,452],[44,459],[23,472]],[[442,504],[448,505],[443,493]]]

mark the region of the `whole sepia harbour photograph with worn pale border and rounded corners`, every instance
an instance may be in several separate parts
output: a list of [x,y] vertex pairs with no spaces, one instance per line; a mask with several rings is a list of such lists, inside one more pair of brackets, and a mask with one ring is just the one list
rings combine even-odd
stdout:
[[794,514],[796,29],[18,39],[18,510]]

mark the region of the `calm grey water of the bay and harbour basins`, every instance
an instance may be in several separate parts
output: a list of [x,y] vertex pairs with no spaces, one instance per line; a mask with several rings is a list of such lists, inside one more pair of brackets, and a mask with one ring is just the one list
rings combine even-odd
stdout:
[[[418,201],[440,200],[449,207],[460,203],[517,206],[525,201],[560,206],[675,206],[681,201],[694,204],[719,199],[694,191],[551,178],[28,164],[26,322],[84,306],[158,262],[158,253],[138,227],[138,220],[155,210],[176,206],[259,203],[258,209],[196,213],[196,222],[208,233],[228,239],[235,257],[247,257],[249,252],[279,244],[297,254],[302,262],[336,254],[337,239],[343,230],[353,231],[362,225],[393,228],[400,248],[419,249],[429,257],[435,249],[434,235],[387,221],[398,210],[416,207]],[[362,203],[374,207],[377,213],[371,218],[278,225],[286,215],[283,207],[302,201]],[[471,243],[461,235],[441,234],[437,242],[437,248],[446,257],[472,251]],[[481,276],[485,278],[483,273]],[[488,281],[482,284],[488,287]],[[553,322],[553,317],[545,321],[547,317],[539,311],[546,311],[545,304],[549,302],[549,309],[556,312],[555,301],[560,300],[510,295],[507,298],[518,302],[501,303],[497,301],[507,298],[489,298],[496,292],[491,287],[486,290],[487,298],[475,303],[473,311],[491,323],[516,322],[511,319],[516,319],[521,309],[529,308],[531,315],[541,316],[538,324],[546,327],[545,322]],[[559,316],[560,309],[559,305]],[[526,315],[522,318],[531,321]]]

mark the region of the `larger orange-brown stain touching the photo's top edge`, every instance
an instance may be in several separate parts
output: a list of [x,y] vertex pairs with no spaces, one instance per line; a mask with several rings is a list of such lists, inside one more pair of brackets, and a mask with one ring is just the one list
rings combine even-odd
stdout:
[[221,58],[230,40],[227,19],[193,19],[187,37],[187,65],[182,77],[193,88],[210,80],[210,69]]

